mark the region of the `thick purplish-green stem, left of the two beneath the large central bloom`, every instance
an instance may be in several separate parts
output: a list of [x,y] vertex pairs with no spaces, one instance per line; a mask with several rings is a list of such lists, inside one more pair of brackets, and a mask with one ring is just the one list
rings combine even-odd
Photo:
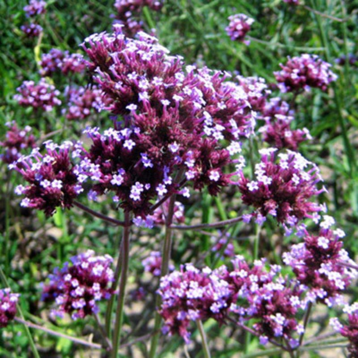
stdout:
[[116,309],[116,321],[114,326],[114,333],[112,338],[112,354],[111,358],[116,358],[118,355],[118,346],[121,338],[122,324],[123,324],[123,311],[125,290],[128,275],[129,265],[129,240],[130,240],[130,213],[124,213],[125,227],[123,229],[123,257],[121,268],[121,279],[119,283],[119,295]]

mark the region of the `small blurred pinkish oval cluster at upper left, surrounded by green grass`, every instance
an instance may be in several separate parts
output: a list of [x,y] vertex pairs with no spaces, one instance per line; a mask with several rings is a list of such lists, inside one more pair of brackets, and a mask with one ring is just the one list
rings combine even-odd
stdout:
[[49,112],[54,106],[62,103],[57,98],[60,92],[55,89],[55,86],[48,84],[44,78],[40,79],[37,84],[34,81],[24,81],[17,91],[19,94],[14,96],[14,100],[18,101],[20,106],[33,107],[34,110],[41,108]]

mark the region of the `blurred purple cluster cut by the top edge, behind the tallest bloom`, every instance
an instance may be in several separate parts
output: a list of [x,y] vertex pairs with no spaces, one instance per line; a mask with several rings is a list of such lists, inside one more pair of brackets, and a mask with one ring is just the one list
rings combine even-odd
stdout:
[[148,6],[149,9],[159,11],[163,6],[160,0],[116,0],[114,4],[117,15],[116,23],[123,26],[123,32],[133,37],[137,32],[142,31],[143,23],[139,20],[142,9]]

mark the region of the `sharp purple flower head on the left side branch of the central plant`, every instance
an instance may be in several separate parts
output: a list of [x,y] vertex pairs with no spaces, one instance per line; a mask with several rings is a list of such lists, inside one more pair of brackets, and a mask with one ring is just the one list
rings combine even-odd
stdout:
[[43,210],[51,216],[56,207],[72,207],[74,198],[83,191],[78,168],[72,162],[82,147],[80,143],[57,145],[47,141],[45,149],[44,155],[38,148],[33,149],[30,155],[21,156],[9,168],[18,171],[29,182],[26,187],[18,185],[15,188],[16,194],[25,195],[21,206]]

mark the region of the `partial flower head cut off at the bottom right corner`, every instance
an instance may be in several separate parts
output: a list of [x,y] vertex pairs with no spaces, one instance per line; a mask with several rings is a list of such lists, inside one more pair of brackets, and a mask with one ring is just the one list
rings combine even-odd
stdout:
[[348,338],[348,357],[356,358],[358,357],[358,303],[355,302],[350,306],[345,306],[343,311],[348,314],[348,322],[343,325],[338,318],[331,318],[330,325],[343,337]]

